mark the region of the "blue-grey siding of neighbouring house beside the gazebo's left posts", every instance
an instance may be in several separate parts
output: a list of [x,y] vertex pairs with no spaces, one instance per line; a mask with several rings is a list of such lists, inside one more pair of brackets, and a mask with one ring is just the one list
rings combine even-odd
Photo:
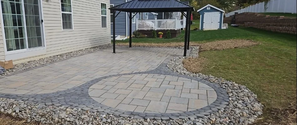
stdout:
[[[126,2],[125,0],[110,0],[110,4],[117,6]],[[115,18],[115,35],[126,36],[126,12],[120,12]],[[112,17],[111,17],[112,18]],[[113,25],[111,24],[111,35],[113,34]]]

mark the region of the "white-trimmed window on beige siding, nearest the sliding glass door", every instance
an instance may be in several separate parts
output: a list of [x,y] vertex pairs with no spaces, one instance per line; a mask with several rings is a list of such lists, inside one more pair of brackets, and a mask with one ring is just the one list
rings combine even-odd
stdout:
[[61,0],[61,15],[63,30],[73,29],[71,0]]

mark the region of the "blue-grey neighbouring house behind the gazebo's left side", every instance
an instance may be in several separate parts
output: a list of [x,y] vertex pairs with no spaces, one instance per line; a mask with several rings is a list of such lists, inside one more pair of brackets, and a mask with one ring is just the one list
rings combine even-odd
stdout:
[[[110,8],[117,6],[119,4],[125,3],[128,0],[110,0]],[[118,12],[117,12],[118,13]],[[136,14],[136,15],[135,15]],[[158,13],[154,12],[141,12],[141,13],[132,13],[132,16],[135,15],[132,19],[132,32],[136,30],[136,19],[155,19]],[[113,20],[110,21],[111,28]],[[116,39],[123,39],[129,36],[129,16],[127,12],[120,12],[116,17],[115,23],[115,35]],[[113,31],[111,31],[111,36]]]

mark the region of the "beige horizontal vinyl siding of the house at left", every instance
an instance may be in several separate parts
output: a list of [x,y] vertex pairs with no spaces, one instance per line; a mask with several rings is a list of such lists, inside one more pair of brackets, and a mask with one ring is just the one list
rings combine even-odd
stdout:
[[[43,0],[46,54],[14,60],[13,63],[23,63],[110,43],[110,23],[107,23],[107,28],[101,28],[101,2],[109,7],[109,0],[72,0],[73,30],[62,31],[60,1]],[[110,15],[108,9],[107,15]],[[110,22],[109,16],[107,22]],[[0,60],[4,60],[1,27]]]

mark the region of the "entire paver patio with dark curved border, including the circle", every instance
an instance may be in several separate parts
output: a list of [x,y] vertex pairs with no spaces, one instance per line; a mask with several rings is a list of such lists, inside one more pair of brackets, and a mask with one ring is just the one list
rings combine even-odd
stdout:
[[203,117],[228,104],[229,96],[218,85],[166,67],[171,58],[182,56],[182,49],[119,47],[111,52],[104,49],[0,77],[0,97],[156,119]]

